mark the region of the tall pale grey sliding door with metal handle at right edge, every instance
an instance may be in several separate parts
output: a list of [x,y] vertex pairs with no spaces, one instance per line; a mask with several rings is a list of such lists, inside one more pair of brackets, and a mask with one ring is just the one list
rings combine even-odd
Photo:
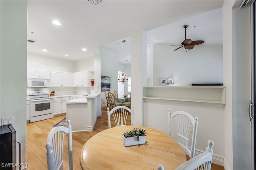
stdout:
[[[254,169],[252,8],[232,9],[232,135],[234,170]],[[249,113],[250,112],[250,113]],[[250,115],[249,115],[250,114]]]

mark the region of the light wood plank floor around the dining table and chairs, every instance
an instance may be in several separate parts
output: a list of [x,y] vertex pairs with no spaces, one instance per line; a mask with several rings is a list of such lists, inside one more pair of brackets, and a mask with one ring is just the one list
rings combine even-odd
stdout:
[[[44,121],[27,123],[27,164],[28,170],[47,170],[46,139],[53,125],[61,121],[66,115],[54,117]],[[127,124],[130,120],[127,121]],[[112,124],[112,123],[111,123]],[[72,125],[72,122],[71,122]],[[114,127],[114,124],[111,126]],[[85,142],[94,134],[108,128],[106,107],[102,108],[102,117],[98,117],[93,132],[72,132],[73,166],[74,170],[81,170],[79,156]],[[64,153],[68,150],[67,138],[64,143]],[[68,155],[63,155],[64,167],[68,169]],[[212,164],[212,170],[224,170],[223,166]]]

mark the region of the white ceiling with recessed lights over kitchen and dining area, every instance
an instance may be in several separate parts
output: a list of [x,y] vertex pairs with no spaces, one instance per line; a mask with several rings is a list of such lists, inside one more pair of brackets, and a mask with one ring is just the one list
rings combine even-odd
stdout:
[[[122,53],[125,38],[124,53],[128,56],[133,30],[144,28],[154,43],[180,44],[185,24],[186,38],[222,44],[222,12],[214,9],[221,8],[223,2],[103,0],[94,7],[87,0],[28,1],[28,39],[37,42],[28,43],[28,52],[78,61],[100,54],[101,45]],[[199,15],[202,13],[205,14]],[[52,20],[59,20],[62,25],[55,26]]]

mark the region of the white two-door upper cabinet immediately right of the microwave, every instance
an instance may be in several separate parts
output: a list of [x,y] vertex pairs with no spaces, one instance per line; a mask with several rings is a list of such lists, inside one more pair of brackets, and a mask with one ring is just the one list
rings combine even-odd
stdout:
[[51,71],[51,86],[70,87],[72,73],[62,71]]

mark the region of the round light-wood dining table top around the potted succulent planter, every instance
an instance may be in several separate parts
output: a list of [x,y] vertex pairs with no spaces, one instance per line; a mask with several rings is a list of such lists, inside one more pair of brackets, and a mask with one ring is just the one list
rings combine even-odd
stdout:
[[[123,145],[124,132],[146,129],[146,143]],[[168,134],[141,126],[120,126],[103,130],[83,146],[80,165],[83,170],[156,170],[158,164],[174,170],[186,162],[181,146]]]

